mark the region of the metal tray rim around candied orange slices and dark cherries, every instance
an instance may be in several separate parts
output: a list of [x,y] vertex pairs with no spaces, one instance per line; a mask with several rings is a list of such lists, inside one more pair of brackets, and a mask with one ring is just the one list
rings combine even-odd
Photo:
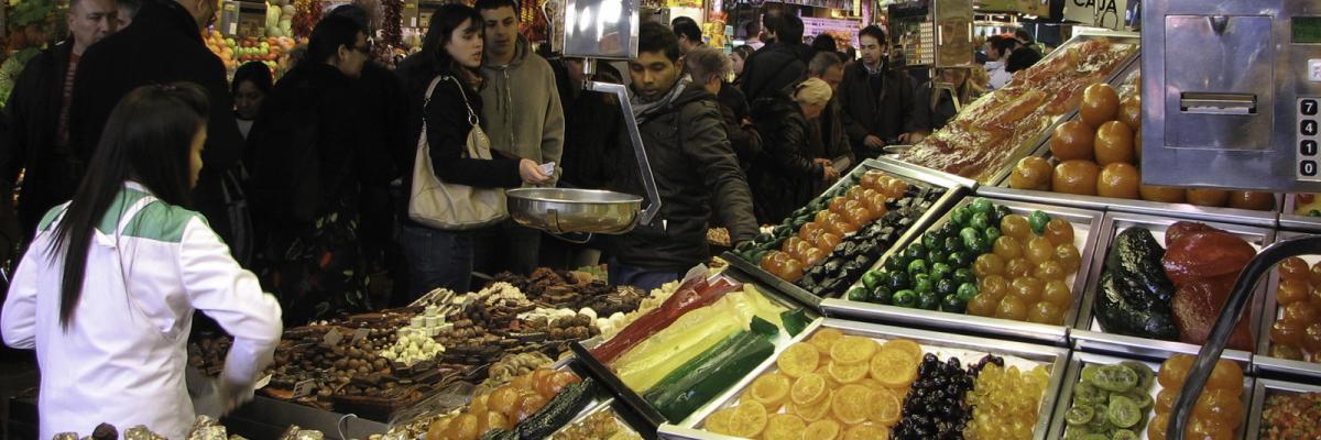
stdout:
[[[1005,341],[987,340],[987,338],[960,336],[960,334],[905,329],[897,326],[855,322],[855,321],[835,320],[835,318],[826,318],[814,322],[807,329],[804,329],[803,333],[799,333],[794,338],[794,342],[806,341],[808,337],[811,337],[812,333],[815,333],[818,329],[822,328],[834,328],[839,329],[844,334],[864,336],[871,338],[884,338],[884,340],[908,338],[923,346],[937,346],[939,349],[947,349],[947,350],[974,351],[976,353],[978,358],[985,354],[1011,355],[1021,358],[1024,361],[1029,361],[1036,365],[1046,365],[1050,369],[1050,383],[1046,386],[1045,392],[1042,392],[1041,411],[1037,414],[1037,425],[1036,428],[1033,428],[1033,432],[1036,440],[1048,439],[1046,428],[1050,423],[1052,411],[1054,410],[1054,396],[1059,394],[1059,387],[1063,381],[1063,373],[1069,359],[1067,349],[1022,344],[1022,342],[1005,342]],[[775,354],[773,354],[769,359],[766,359],[766,362],[762,362],[762,365],[758,366],[756,370],[753,370],[752,374],[744,377],[742,379],[738,381],[738,383],[736,383],[723,395],[720,395],[711,403],[695,411],[692,416],[690,416],[683,423],[662,424],[659,428],[660,435],[667,439],[736,439],[703,431],[701,428],[699,428],[699,425],[712,412],[723,407],[734,404],[734,402],[744,392],[744,390],[748,386],[750,386],[752,382],[758,375],[774,367],[775,359],[779,358],[781,353],[783,353],[783,349],[775,350]],[[970,362],[978,361],[978,359],[966,359],[963,357],[960,357],[960,359],[966,361],[964,366],[968,365]]]

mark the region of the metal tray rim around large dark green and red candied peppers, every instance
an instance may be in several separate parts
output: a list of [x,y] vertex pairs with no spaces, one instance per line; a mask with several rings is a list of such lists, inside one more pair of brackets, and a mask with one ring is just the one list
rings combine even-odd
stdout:
[[[1129,227],[1144,227],[1152,231],[1156,239],[1161,242],[1161,246],[1164,246],[1165,230],[1178,221],[1180,219],[1177,218],[1145,214],[1106,213],[1100,234],[1096,237],[1096,251],[1092,252],[1091,271],[1087,276],[1087,291],[1082,299],[1083,303],[1078,313],[1078,321],[1074,324],[1074,329],[1069,333],[1077,349],[1086,351],[1120,353],[1144,358],[1164,358],[1162,355],[1168,355],[1170,351],[1197,353],[1199,346],[1192,344],[1106,333],[1102,330],[1100,322],[1096,321],[1092,313],[1092,305],[1095,304],[1096,296],[1100,295],[1098,287],[1100,284],[1100,275],[1106,268],[1106,256],[1110,254],[1110,247],[1115,237]],[[1275,230],[1269,229],[1232,223],[1202,223],[1235,234],[1246,239],[1258,251],[1275,240]],[[1250,329],[1259,328],[1262,300],[1264,297],[1266,285],[1258,285],[1252,303],[1244,314],[1251,320],[1248,322]],[[1251,353],[1242,350],[1225,350],[1223,357],[1234,361],[1250,361],[1252,358]]]

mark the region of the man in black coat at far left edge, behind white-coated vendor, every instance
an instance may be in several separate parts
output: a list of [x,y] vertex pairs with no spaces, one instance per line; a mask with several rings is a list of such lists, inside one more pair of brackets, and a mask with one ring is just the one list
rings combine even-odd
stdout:
[[[114,0],[74,0],[70,37],[42,50],[22,69],[5,108],[12,129],[0,147],[0,194],[11,194],[24,172],[17,217],[30,238],[46,210],[69,201],[82,173],[74,170],[69,143],[69,102],[83,52],[118,30]],[[73,69],[70,69],[70,66]]]

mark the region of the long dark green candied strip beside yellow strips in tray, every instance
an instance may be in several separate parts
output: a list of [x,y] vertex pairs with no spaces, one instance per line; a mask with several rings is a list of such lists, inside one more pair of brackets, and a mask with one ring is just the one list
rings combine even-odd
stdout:
[[683,422],[769,358],[775,351],[770,338],[778,332],[774,324],[753,317],[752,330],[738,332],[701,351],[651,387],[646,400],[670,423]]

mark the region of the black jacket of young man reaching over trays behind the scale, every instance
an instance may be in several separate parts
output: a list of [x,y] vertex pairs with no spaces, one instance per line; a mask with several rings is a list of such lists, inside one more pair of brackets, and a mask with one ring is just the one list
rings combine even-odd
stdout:
[[[620,263],[680,274],[705,263],[711,256],[707,229],[712,205],[721,207],[721,225],[734,243],[757,234],[752,194],[725,136],[716,96],[688,86],[638,131],[662,206],[651,225],[638,225],[610,239],[612,255]],[[646,207],[650,201],[631,148],[618,148],[613,159],[610,189],[642,196]]]

